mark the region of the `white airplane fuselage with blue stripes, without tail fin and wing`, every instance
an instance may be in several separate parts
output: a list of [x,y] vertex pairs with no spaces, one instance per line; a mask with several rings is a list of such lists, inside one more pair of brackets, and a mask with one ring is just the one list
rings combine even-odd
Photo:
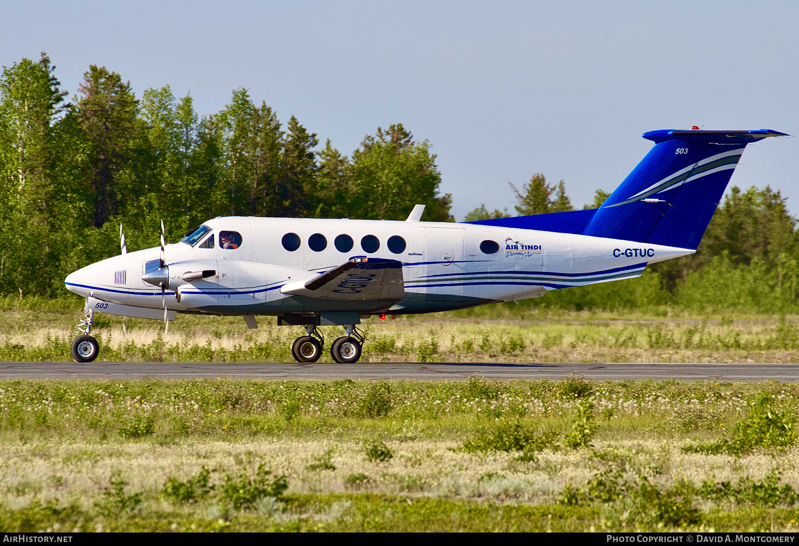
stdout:
[[[531,298],[556,288],[629,279],[641,275],[647,263],[694,252],[619,239],[480,224],[231,216],[203,225],[210,231],[194,246],[181,242],[165,247],[169,310],[231,315],[445,311]],[[220,247],[221,231],[240,234],[240,246]],[[282,241],[284,235],[292,233],[300,245],[296,250],[287,250]],[[309,247],[312,235],[316,235],[316,248],[322,246],[320,241],[324,239],[324,249]],[[352,248],[337,248],[339,235],[348,235]],[[373,238],[369,239],[372,247],[362,247],[361,241],[367,235],[377,239],[376,250]],[[214,246],[201,247],[210,236],[216,238]],[[400,239],[393,239],[393,249],[389,248],[392,237],[404,241],[400,252],[395,252],[403,246],[396,243]],[[78,295],[109,303],[161,309],[161,288],[141,279],[145,263],[157,260],[159,252],[155,247],[93,263],[69,275],[66,287]],[[320,303],[281,291],[292,281],[310,279],[363,256],[402,263],[403,299],[383,307],[370,308],[363,302],[352,307],[346,301]],[[189,283],[181,280],[180,275],[195,270],[213,270],[215,275]],[[175,297],[178,289],[184,295],[181,302]]]

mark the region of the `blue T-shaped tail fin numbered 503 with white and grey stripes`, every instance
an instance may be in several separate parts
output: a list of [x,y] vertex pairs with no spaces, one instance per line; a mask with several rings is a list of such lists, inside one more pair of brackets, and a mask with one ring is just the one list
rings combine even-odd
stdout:
[[695,249],[746,144],[778,136],[785,133],[644,133],[654,140],[654,148],[602,204],[583,234]]

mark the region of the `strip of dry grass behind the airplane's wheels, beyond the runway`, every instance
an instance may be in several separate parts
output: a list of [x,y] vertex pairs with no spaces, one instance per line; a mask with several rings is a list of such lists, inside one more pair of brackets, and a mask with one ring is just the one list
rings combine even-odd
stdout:
[[[38,301],[38,300],[36,300]],[[78,303],[2,300],[0,360],[68,361]],[[22,303],[27,307],[19,307]],[[18,307],[13,307],[14,303]],[[512,304],[511,304],[512,305]],[[364,321],[362,362],[797,362],[799,317],[698,318],[576,311],[451,314]],[[236,317],[181,315],[164,334],[157,321],[97,314],[93,334],[109,362],[292,362],[299,327],[260,317],[248,330]],[[124,326],[124,329],[123,329]],[[326,346],[343,334],[324,328]],[[323,351],[321,362],[329,362]]]

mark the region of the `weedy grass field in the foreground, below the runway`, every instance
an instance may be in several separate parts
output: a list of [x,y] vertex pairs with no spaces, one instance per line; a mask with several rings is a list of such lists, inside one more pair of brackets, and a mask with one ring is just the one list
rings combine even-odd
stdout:
[[[796,532],[797,399],[577,377],[2,382],[0,529]],[[745,452],[690,449],[741,435]]]

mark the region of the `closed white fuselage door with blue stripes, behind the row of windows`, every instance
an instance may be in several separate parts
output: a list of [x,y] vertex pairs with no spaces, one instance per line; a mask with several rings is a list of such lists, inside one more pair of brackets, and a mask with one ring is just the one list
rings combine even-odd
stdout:
[[463,296],[463,228],[424,228],[426,299],[459,302]]

